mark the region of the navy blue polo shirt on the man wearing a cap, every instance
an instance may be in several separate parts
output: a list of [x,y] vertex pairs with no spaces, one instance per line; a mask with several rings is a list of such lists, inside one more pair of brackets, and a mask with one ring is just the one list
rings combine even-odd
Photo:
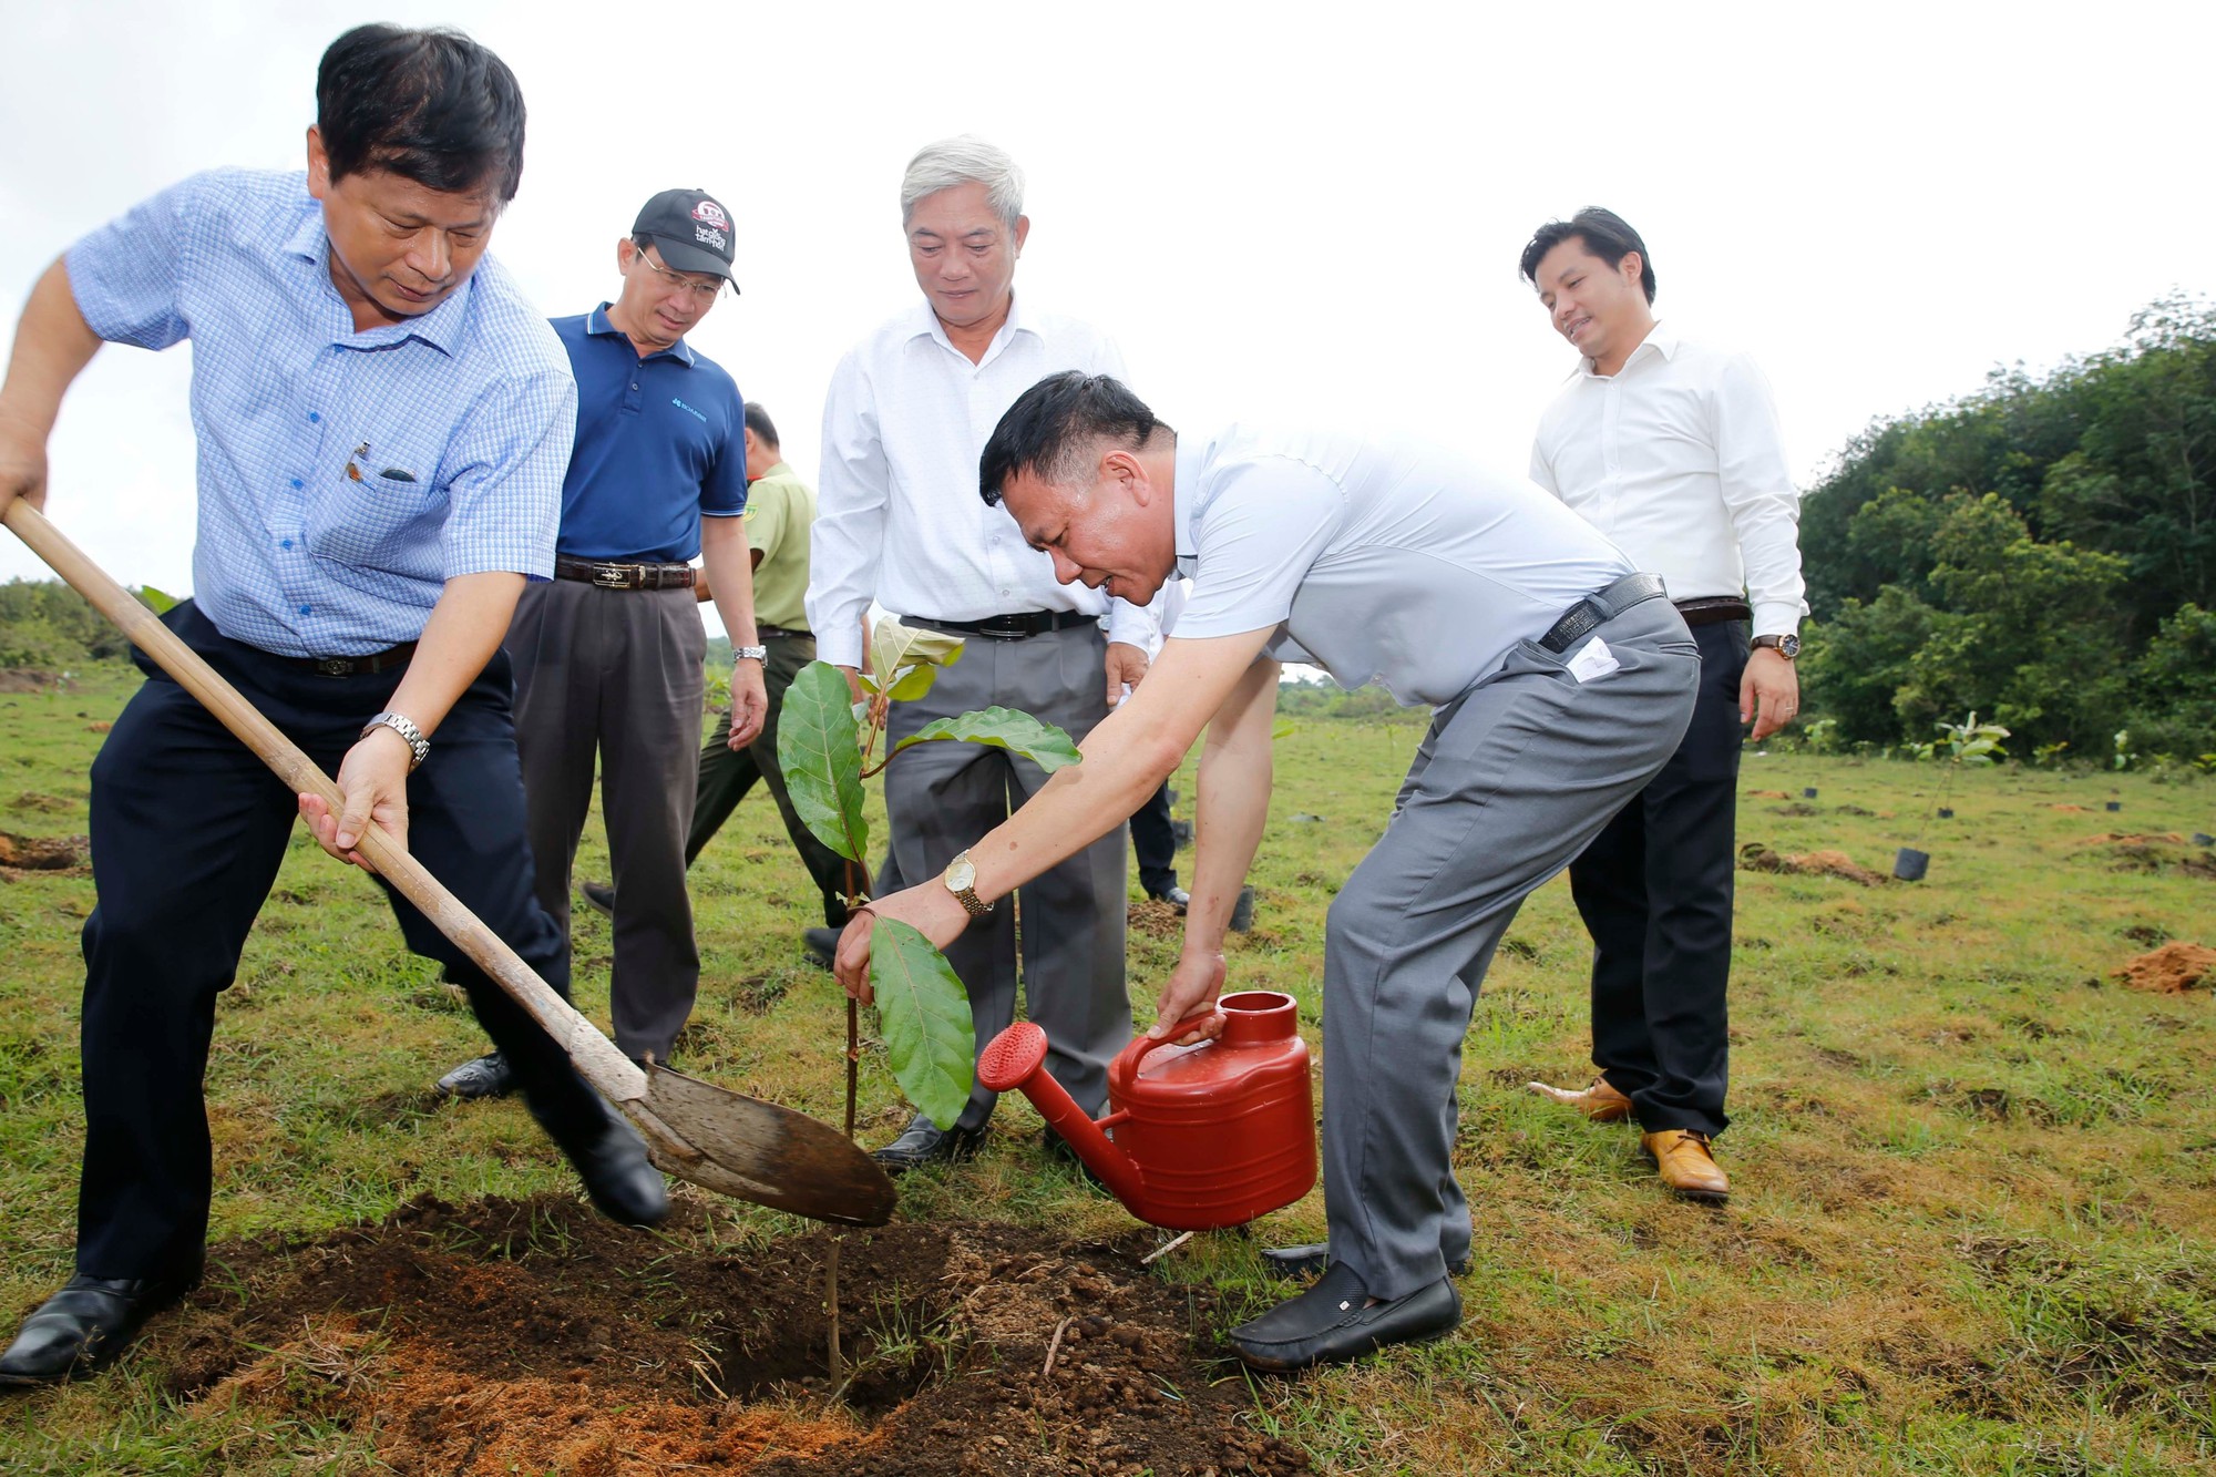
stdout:
[[607,304],[556,317],[576,370],[576,446],[561,486],[572,559],[683,563],[700,552],[700,517],[747,510],[747,401],[720,364],[678,339],[638,357]]

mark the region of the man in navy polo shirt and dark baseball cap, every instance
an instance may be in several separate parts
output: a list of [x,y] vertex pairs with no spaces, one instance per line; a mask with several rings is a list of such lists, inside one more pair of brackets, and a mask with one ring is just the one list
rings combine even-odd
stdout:
[[[685,342],[731,279],[731,215],[700,191],[663,191],[616,244],[623,291],[554,319],[576,370],[576,448],[563,481],[554,583],[516,603],[516,747],[530,798],[538,905],[567,947],[570,869],[601,765],[601,818],[616,874],[616,1045],[667,1062],[700,989],[685,836],[691,829],[707,632],[700,554],[731,634],[731,743],[762,730],[762,648],[747,557],[745,401]],[[503,1053],[439,1080],[507,1091]]]

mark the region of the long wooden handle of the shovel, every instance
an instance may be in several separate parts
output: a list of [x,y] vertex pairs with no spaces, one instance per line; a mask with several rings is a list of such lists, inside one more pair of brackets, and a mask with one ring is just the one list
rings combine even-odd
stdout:
[[[239,690],[217,676],[215,668],[202,661],[168,625],[146,610],[129,590],[109,579],[106,570],[93,563],[84,550],[71,543],[62,530],[27,501],[9,499],[0,515],[16,537],[31,546],[55,574],[93,603],[100,614],[115,623],[131,643],[153,656],[155,665],[177,679],[177,685],[206,705],[217,721],[228,727],[239,743],[253,750],[261,763],[277,772],[295,794],[319,794],[339,812],[339,787],[328,774],[315,767],[306,754],[286,738],[275,723],[239,696]],[[397,845],[383,829],[370,825],[361,845],[355,847],[377,869],[377,876],[423,909],[441,934],[490,974],[501,989],[530,1011],[532,1020],[545,1027],[578,1073],[603,1096],[629,1102],[647,1096],[647,1073],[638,1069],[616,1042],[607,1040],[598,1027],[576,1011],[574,1005],[554,994],[554,987],[538,978],[501,936],[488,929],[476,914],[461,905],[452,892],[434,878],[423,863]]]

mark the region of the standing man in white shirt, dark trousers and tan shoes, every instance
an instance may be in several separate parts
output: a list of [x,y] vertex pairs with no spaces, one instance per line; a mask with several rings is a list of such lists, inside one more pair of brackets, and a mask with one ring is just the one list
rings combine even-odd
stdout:
[[1584,355],[1540,419],[1531,479],[1662,574],[1702,659],[1678,754],[1569,865],[1593,936],[1600,1078],[1531,1087],[1596,1122],[1638,1118],[1664,1184],[1724,1200],[1709,1144],[1728,1122],[1740,725],[1762,741],[1799,710],[1799,492],[1762,370],[1655,322],[1653,262],[1622,217],[1540,226],[1522,275]]

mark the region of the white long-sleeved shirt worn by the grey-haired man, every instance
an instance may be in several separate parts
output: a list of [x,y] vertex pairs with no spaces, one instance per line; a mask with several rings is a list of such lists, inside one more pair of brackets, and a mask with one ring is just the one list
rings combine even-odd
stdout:
[[1055,561],[1024,543],[1006,508],[977,497],[977,459],[1015,399],[1061,370],[1124,377],[1115,344],[1017,297],[984,359],[946,339],[929,302],[840,359],[824,397],[822,486],[809,546],[809,628],[822,661],[862,663],[862,612],[984,621],[1030,610],[1108,619],[1141,652],[1143,605],[1055,583]]

